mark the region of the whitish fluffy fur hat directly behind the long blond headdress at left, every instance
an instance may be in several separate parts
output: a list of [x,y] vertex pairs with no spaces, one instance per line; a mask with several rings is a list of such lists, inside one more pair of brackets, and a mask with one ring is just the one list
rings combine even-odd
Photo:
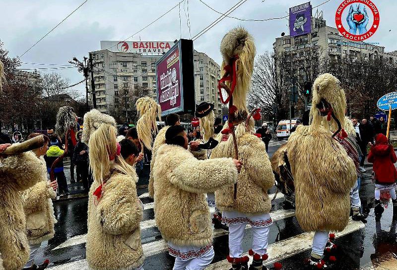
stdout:
[[85,113],[83,122],[83,136],[81,141],[88,144],[90,135],[93,134],[102,123],[107,123],[109,125],[117,128],[116,120],[110,115],[103,114],[96,109]]

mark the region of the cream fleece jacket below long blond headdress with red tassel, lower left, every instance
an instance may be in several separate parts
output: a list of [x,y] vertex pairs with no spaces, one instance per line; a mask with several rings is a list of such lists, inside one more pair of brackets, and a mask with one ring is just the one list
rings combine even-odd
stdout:
[[139,222],[142,206],[133,176],[114,172],[99,201],[91,185],[88,201],[86,258],[90,270],[131,270],[143,264]]

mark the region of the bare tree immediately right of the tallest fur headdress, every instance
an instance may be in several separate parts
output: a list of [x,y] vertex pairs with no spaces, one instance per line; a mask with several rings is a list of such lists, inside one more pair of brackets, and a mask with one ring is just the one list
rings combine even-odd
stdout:
[[262,114],[275,116],[277,120],[285,119],[288,112],[288,90],[291,84],[286,64],[285,53],[265,52],[259,56],[255,62],[252,88],[248,94],[250,107],[259,107]]

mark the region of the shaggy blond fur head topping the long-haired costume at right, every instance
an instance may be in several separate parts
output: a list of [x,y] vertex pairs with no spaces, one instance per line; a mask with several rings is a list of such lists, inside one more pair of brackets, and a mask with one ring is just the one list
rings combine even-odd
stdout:
[[339,80],[330,73],[324,73],[314,81],[312,108],[310,109],[311,128],[318,129],[322,125],[326,130],[337,131],[336,121],[333,118],[328,121],[327,116],[322,116],[317,107],[322,103],[322,99],[331,104],[333,114],[340,122],[341,128],[344,129],[346,127],[346,96]]

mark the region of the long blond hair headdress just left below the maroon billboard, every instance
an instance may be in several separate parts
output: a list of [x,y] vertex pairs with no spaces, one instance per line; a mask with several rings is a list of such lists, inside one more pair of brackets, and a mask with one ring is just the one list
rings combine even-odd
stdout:
[[138,138],[145,147],[152,149],[153,134],[157,133],[156,118],[161,119],[161,107],[150,97],[141,97],[136,100],[136,111],[139,119],[136,122]]

